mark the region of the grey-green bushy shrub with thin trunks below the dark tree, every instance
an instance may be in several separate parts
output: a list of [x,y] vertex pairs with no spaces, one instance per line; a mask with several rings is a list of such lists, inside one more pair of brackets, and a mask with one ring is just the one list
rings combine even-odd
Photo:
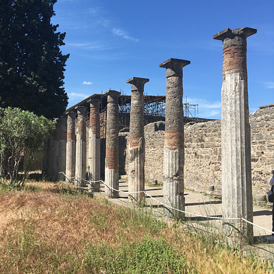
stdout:
[[[0,177],[2,182],[22,185],[55,121],[18,108],[0,108]],[[18,166],[29,152],[22,177]]]

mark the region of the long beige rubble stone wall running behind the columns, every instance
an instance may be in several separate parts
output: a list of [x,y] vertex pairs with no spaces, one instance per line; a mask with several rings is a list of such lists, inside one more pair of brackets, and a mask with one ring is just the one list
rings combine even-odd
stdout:
[[[249,114],[253,196],[269,190],[274,169],[274,105]],[[221,121],[185,125],[185,188],[206,192],[209,186],[221,192]],[[121,175],[127,173],[127,132],[119,137]],[[145,126],[145,180],[163,182],[164,122]]]

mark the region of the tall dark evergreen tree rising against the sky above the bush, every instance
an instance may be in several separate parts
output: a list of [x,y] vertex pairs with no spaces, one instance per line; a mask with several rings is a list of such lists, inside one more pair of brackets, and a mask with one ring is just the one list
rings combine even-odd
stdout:
[[49,119],[61,116],[65,33],[51,24],[57,0],[3,0],[0,5],[0,107],[29,110]]

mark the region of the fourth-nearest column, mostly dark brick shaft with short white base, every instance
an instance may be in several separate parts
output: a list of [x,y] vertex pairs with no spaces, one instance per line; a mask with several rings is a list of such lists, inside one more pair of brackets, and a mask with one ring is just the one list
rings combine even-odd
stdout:
[[105,136],[105,195],[110,198],[119,197],[119,110],[118,98],[120,92],[108,90],[107,121]]

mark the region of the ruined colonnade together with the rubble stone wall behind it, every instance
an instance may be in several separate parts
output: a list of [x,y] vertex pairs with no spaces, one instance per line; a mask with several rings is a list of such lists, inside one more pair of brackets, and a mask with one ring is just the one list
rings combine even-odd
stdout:
[[[108,90],[67,109],[47,140],[43,172],[92,192],[103,179],[110,198],[119,197],[119,176],[127,175],[134,202],[145,183],[163,184],[166,214],[178,218],[184,214],[171,208],[184,210],[184,188],[207,192],[222,197],[223,216],[252,221],[253,199],[265,199],[274,166],[274,104],[248,108],[252,34],[256,29],[245,27],[213,37],[223,42],[221,121],[184,115],[182,69],[190,61],[171,58],[160,64],[165,96],[145,95],[149,79],[132,77],[132,95]],[[252,225],[245,223],[244,234],[252,240]]]

